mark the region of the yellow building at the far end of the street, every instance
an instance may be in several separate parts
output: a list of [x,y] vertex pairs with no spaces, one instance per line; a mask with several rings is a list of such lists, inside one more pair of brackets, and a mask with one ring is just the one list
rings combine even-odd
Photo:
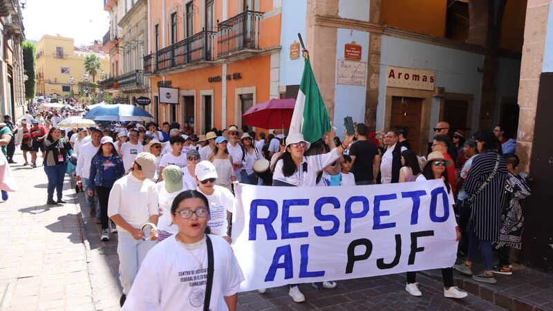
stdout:
[[[72,38],[44,35],[37,42],[36,48],[37,95],[67,97],[71,88],[77,93],[77,84],[84,82],[86,55],[95,54],[102,61],[100,71],[109,73],[109,55],[75,48]],[[94,83],[100,79],[100,73],[97,73],[94,81],[93,77],[89,77],[89,82]]]

